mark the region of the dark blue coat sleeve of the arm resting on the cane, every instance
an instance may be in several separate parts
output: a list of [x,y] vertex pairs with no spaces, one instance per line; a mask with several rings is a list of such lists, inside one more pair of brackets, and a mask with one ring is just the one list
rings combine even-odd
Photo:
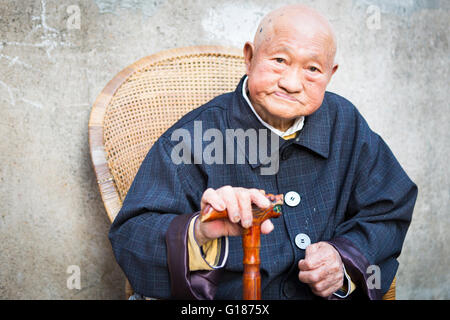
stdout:
[[[205,178],[197,166],[174,164],[171,150],[165,137],[153,145],[111,225],[109,239],[135,292],[167,299],[174,297],[171,287],[177,287],[187,290],[178,291],[177,298],[195,298],[185,267],[187,230],[199,210]],[[183,265],[175,267],[177,263]]]

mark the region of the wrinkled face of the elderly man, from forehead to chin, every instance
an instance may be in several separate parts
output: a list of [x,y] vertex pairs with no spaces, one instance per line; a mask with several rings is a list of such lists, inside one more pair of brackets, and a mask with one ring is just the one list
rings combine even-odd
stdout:
[[256,48],[247,43],[244,56],[252,104],[275,122],[314,113],[337,69],[329,35],[292,24],[273,28]]

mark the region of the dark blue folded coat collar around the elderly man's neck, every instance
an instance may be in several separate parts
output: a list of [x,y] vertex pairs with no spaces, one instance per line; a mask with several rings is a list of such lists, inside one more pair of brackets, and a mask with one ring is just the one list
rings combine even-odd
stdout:
[[[242,129],[246,131],[250,128],[257,131],[259,129],[268,130],[251,111],[247,101],[245,101],[242,95],[242,86],[246,77],[247,76],[242,77],[233,93],[232,103],[227,112],[228,125],[234,130]],[[329,119],[329,106],[325,95],[320,108],[312,115],[305,117],[303,129],[299,132],[295,139],[284,140],[283,138],[278,137],[279,148],[282,150],[284,146],[287,146],[288,144],[296,144],[317,153],[323,158],[328,158],[330,136],[331,125]],[[267,150],[270,151],[270,138],[268,139],[268,142],[269,145]],[[245,145],[241,145],[240,147],[242,150],[246,150]],[[245,152],[245,155],[248,160],[248,152]],[[251,164],[254,168],[260,165],[261,163],[259,162],[259,159],[256,164]]]

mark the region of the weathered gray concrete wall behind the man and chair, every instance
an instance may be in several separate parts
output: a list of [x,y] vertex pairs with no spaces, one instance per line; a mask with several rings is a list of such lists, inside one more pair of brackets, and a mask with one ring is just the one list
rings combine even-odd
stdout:
[[[137,59],[242,47],[265,13],[290,2],[0,0],[0,298],[123,297],[90,163],[92,103]],[[419,186],[398,298],[449,299],[449,2],[303,3],[338,35],[330,90],[354,102]],[[81,289],[67,287],[70,265]]]

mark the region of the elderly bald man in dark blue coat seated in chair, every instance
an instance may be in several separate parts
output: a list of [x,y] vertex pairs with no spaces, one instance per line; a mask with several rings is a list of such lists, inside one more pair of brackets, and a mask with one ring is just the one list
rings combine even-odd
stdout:
[[[271,12],[244,46],[236,91],[190,112],[154,144],[110,231],[135,292],[242,298],[237,236],[252,224],[252,205],[269,206],[260,190],[286,199],[282,217],[261,226],[263,299],[380,299],[388,290],[417,188],[356,108],[325,91],[335,53],[333,31],[316,11]],[[174,163],[174,132],[193,133],[198,123],[223,133],[270,130],[278,170],[261,174],[245,144],[232,149],[243,150],[245,163],[206,164],[193,154]],[[201,222],[207,204],[228,218]]]

